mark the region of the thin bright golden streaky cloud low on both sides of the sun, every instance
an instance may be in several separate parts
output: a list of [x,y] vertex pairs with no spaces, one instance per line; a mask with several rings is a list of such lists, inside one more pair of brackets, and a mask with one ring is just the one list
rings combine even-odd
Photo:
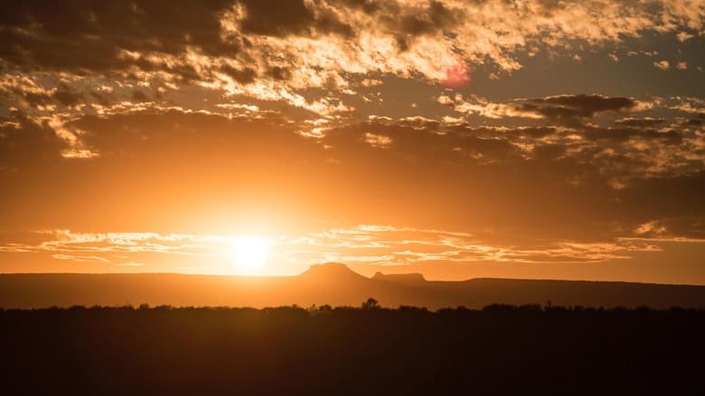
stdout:
[[[639,230],[646,230],[639,232]],[[396,226],[352,226],[328,228],[302,235],[278,235],[270,240],[272,259],[307,265],[327,261],[374,262],[375,265],[409,265],[420,262],[521,262],[576,263],[629,259],[634,252],[661,248],[642,238],[651,223],[637,230],[639,238],[610,243],[559,241],[540,248],[490,244],[482,235],[435,229]],[[238,235],[187,235],[156,233],[77,233],[50,230],[32,233],[39,243],[12,240],[0,244],[4,253],[49,253],[54,259],[95,262],[97,265],[129,265],[139,262],[155,268],[169,257],[186,263],[203,260],[225,266],[202,266],[202,270],[230,272],[233,241]],[[173,259],[172,259],[173,260]],[[276,262],[270,263],[277,265]]]

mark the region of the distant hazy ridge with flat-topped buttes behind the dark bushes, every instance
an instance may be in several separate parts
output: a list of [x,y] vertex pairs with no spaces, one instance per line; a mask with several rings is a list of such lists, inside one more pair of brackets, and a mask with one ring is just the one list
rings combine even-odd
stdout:
[[705,286],[606,281],[474,279],[427,281],[422,274],[371,278],[341,263],[312,265],[297,276],[237,277],[174,273],[0,274],[0,308],[73,305],[302,307],[359,306],[373,297],[382,306],[439,309],[500,304],[705,309]]

